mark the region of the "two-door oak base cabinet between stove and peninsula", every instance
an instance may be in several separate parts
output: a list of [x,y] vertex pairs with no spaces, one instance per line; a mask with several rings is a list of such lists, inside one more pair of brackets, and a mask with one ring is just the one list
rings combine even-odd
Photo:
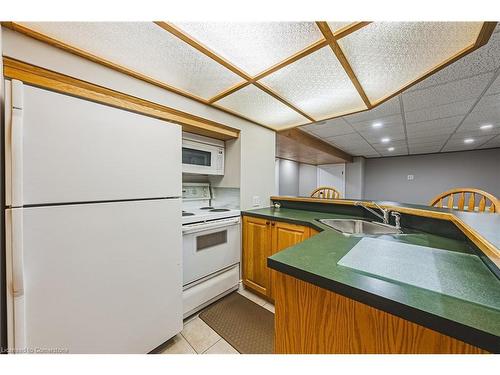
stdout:
[[303,225],[243,216],[243,284],[273,300],[267,257],[316,233]]

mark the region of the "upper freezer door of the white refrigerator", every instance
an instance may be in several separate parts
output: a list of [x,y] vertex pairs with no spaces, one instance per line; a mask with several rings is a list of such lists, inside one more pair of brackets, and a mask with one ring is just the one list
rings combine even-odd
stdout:
[[179,125],[15,80],[6,94],[8,206],[181,196]]

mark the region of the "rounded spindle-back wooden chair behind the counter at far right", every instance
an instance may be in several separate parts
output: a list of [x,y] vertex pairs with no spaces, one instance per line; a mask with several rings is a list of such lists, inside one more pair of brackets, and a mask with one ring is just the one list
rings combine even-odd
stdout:
[[[478,206],[476,206],[476,197],[479,199]],[[458,199],[456,205],[455,198]],[[465,202],[467,202],[467,208],[465,208]],[[434,198],[430,205],[471,212],[500,212],[500,201],[495,196],[474,188],[457,188],[445,191]]]

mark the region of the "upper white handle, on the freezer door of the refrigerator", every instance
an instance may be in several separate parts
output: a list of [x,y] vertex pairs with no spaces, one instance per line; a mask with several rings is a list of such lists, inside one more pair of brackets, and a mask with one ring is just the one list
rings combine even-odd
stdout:
[[12,80],[12,207],[23,205],[23,83]]

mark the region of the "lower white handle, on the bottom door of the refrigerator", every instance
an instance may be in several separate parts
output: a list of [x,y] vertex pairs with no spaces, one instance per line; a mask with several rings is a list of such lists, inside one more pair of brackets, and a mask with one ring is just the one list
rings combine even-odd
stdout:
[[23,210],[12,209],[12,293],[24,295]]

